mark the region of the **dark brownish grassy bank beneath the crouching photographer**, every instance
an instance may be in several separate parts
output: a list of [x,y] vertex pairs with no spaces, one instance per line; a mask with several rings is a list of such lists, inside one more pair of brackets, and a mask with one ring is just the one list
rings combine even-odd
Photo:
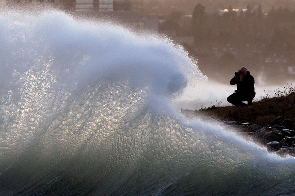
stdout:
[[254,102],[251,106],[220,107],[217,102],[212,107],[196,111],[183,110],[183,113],[206,115],[221,120],[249,122],[261,126],[267,126],[279,116],[295,121],[295,88],[290,84],[282,89],[276,89],[273,95],[266,94],[264,98]]

